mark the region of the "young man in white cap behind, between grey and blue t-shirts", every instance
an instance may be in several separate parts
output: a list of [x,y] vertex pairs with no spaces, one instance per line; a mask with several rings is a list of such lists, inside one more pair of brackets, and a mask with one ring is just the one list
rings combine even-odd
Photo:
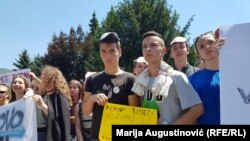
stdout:
[[175,70],[181,71],[189,77],[197,72],[200,68],[192,66],[188,63],[189,46],[187,39],[184,37],[175,37],[170,43],[170,56],[174,59]]

